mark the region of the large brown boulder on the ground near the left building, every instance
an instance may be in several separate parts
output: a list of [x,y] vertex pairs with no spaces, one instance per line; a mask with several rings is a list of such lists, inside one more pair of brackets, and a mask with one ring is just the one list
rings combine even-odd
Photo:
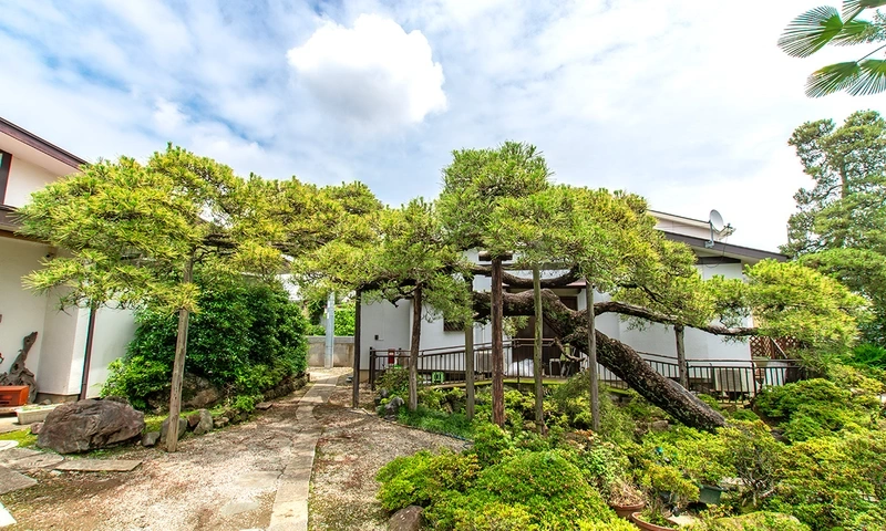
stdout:
[[142,435],[145,415],[128,404],[79,400],[62,404],[47,416],[37,446],[59,454],[94,450]]

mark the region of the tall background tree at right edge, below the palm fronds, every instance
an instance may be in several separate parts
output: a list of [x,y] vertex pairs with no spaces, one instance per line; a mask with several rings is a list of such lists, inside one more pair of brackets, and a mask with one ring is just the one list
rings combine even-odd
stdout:
[[794,195],[799,212],[787,223],[782,252],[831,274],[873,303],[863,325],[867,342],[886,346],[886,121],[874,111],[794,131],[812,188]]

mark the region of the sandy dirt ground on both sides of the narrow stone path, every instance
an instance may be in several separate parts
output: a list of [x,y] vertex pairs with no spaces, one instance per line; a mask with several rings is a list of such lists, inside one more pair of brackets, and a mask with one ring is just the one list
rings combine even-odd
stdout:
[[[176,454],[136,447],[113,455],[142,459],[132,472],[27,472],[34,487],[0,496],[19,530],[245,530],[270,522],[277,478],[289,462],[298,399],[275,400],[249,423],[186,438]],[[369,393],[362,393],[369,400]],[[315,408],[323,426],[310,498],[311,530],[385,529],[374,499],[375,472],[396,456],[463,441],[353,412],[344,377],[329,405]],[[365,405],[371,409],[371,403]]]

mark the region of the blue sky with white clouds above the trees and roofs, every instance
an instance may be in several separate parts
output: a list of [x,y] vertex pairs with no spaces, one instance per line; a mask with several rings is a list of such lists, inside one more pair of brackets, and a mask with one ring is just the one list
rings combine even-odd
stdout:
[[0,116],[87,160],[172,142],[392,206],[435,197],[454,149],[527,142],[557,183],[776,250],[811,183],[793,129],[886,102],[803,94],[859,55],[775,45],[828,2],[0,0]]

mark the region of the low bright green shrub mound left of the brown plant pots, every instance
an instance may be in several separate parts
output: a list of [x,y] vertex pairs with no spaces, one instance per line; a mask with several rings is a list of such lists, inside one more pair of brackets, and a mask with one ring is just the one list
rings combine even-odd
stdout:
[[569,450],[517,448],[494,425],[477,431],[474,448],[461,454],[423,451],[383,467],[382,507],[425,507],[436,529],[631,529],[617,521]]

